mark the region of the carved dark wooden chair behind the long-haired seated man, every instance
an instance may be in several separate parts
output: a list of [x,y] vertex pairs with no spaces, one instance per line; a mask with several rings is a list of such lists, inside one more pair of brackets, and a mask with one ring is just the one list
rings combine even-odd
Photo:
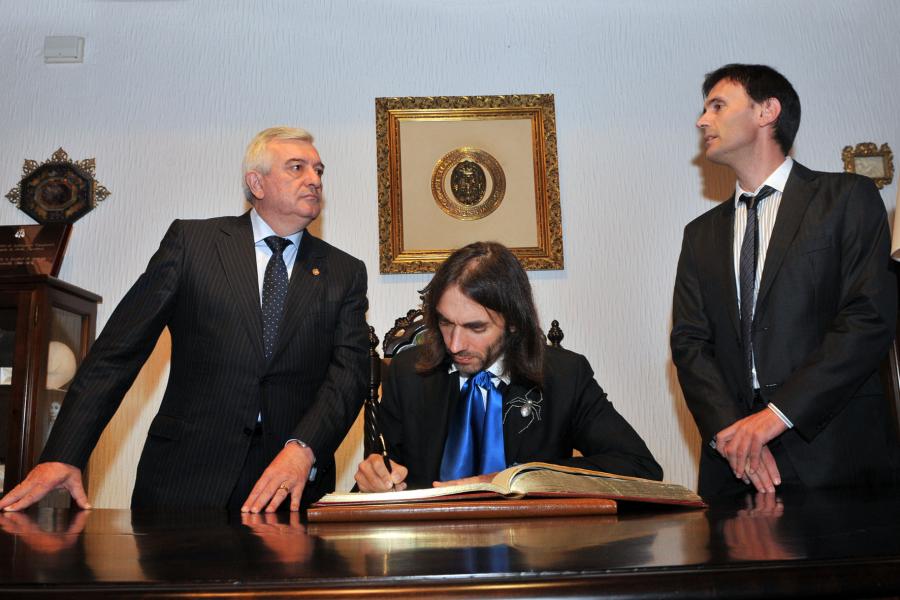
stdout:
[[[381,440],[378,438],[379,390],[384,371],[394,356],[417,345],[424,332],[425,316],[422,314],[422,310],[415,308],[407,311],[406,316],[396,319],[394,326],[384,334],[384,342],[381,345],[384,350],[384,358],[381,358],[378,355],[378,336],[375,335],[375,328],[369,326],[369,395],[366,398],[365,413],[363,415],[365,429],[365,435],[363,436],[364,456],[372,453],[379,454],[384,450]],[[559,327],[559,321],[554,319],[550,324],[550,331],[547,332],[548,344],[561,348],[564,337],[565,334]]]

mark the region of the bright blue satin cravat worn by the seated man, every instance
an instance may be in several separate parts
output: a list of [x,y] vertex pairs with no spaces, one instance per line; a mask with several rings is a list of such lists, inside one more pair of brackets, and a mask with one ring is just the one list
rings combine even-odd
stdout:
[[[487,406],[479,387],[487,390]],[[441,481],[494,473],[506,468],[503,394],[491,374],[479,371],[463,386],[441,460]]]

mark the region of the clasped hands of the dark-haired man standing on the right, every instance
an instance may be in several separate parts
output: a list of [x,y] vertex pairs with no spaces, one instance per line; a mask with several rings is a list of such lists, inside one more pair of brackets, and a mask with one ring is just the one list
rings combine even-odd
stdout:
[[756,491],[772,493],[781,474],[767,444],[787,426],[768,408],[735,421],[716,434],[716,450],[728,460],[734,476],[752,483]]

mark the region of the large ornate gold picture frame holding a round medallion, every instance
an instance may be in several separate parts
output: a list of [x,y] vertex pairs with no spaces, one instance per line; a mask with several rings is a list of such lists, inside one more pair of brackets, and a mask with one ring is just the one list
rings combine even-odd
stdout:
[[375,99],[381,273],[429,273],[479,240],[563,268],[552,94]]

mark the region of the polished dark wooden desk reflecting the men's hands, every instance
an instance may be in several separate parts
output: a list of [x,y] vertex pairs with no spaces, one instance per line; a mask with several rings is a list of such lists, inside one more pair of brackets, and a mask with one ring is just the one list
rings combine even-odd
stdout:
[[0,515],[0,594],[177,597],[886,597],[900,490],[617,516],[306,525],[299,514]]

